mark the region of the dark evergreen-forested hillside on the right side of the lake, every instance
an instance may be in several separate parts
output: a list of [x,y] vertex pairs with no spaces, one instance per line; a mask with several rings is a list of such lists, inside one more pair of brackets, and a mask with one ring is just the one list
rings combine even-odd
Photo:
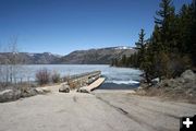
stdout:
[[138,52],[130,58],[113,60],[111,66],[134,67],[144,70],[146,80],[175,78],[196,66],[196,1],[183,4],[179,12],[172,0],[161,0],[155,16],[150,38],[145,29],[135,44]]

